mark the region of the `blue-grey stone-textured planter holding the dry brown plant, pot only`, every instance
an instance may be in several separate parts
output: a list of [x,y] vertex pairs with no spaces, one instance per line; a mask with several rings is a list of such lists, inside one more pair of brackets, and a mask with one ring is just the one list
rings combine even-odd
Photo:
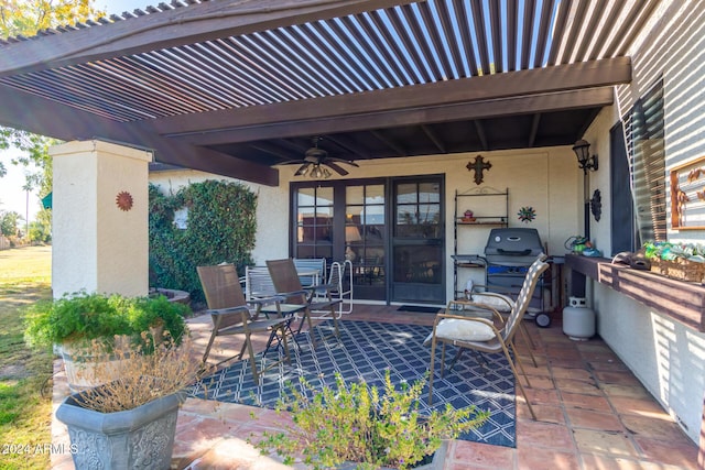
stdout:
[[78,394],[66,397],[56,418],[68,427],[76,470],[169,469],[184,397],[176,393],[117,413],[87,409]]

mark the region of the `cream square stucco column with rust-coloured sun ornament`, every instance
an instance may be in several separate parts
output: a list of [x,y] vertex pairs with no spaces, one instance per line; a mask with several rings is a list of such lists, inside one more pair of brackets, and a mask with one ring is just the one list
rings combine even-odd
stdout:
[[147,295],[151,152],[93,140],[50,154],[54,297],[82,289]]

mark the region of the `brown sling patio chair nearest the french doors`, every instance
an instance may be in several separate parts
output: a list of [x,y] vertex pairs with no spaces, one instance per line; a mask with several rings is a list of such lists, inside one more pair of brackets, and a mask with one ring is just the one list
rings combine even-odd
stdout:
[[[336,315],[336,307],[341,300],[333,299],[330,297],[330,291],[334,288],[327,284],[313,286],[310,288],[303,288],[301,280],[296,272],[294,261],[289,258],[285,260],[269,260],[267,261],[267,267],[272,276],[276,295],[283,297],[288,304],[301,305],[302,318],[299,324],[299,328],[294,334],[301,332],[304,321],[308,324],[308,330],[311,331],[311,343],[316,347],[316,338],[313,329],[313,321],[311,319],[311,313],[313,310],[326,311],[326,316],[329,315],[333,319],[334,336],[339,337],[340,330],[338,329],[338,317]],[[325,292],[325,299],[316,299],[314,295],[316,292]],[[326,337],[322,338],[324,341]]]

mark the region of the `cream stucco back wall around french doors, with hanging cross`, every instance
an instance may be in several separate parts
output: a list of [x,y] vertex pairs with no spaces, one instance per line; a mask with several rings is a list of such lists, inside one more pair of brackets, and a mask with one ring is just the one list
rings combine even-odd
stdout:
[[[347,178],[369,178],[378,176],[408,176],[444,174],[446,204],[446,297],[453,297],[453,216],[456,189],[466,192],[477,187],[509,188],[509,226],[531,227],[539,230],[550,254],[563,254],[565,240],[581,233],[583,221],[583,176],[578,171],[575,154],[570,146],[531,149],[521,151],[482,152],[491,168],[484,172],[484,183],[474,182],[474,173],[466,168],[478,153],[454,155],[430,155],[415,159],[386,159],[358,162],[359,168],[351,167]],[[265,260],[289,255],[289,184],[296,165],[280,167],[280,186],[276,188],[245,183],[258,194],[257,244],[252,252],[254,262],[263,265]],[[206,178],[226,179],[196,171],[153,172],[150,182],[162,190],[177,190],[189,183]],[[295,178],[301,181],[300,177]],[[462,211],[470,208],[481,211],[482,207],[470,207],[464,200]],[[477,199],[476,205],[485,201]],[[492,204],[497,204],[496,201]],[[533,207],[536,218],[524,223],[518,218],[520,208]],[[502,208],[503,210],[503,208]],[[501,215],[501,214],[500,214]],[[462,253],[482,253],[489,228],[464,228],[459,233]],[[484,282],[482,270],[460,270],[458,285],[468,278]]]

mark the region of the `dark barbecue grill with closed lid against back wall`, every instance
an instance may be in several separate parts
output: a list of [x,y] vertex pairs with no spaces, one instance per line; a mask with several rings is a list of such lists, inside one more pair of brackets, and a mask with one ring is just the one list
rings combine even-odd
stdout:
[[[536,229],[492,229],[485,247],[485,275],[487,289],[516,297],[524,282],[527,271],[543,252]],[[543,308],[543,287],[534,291],[532,307]]]

